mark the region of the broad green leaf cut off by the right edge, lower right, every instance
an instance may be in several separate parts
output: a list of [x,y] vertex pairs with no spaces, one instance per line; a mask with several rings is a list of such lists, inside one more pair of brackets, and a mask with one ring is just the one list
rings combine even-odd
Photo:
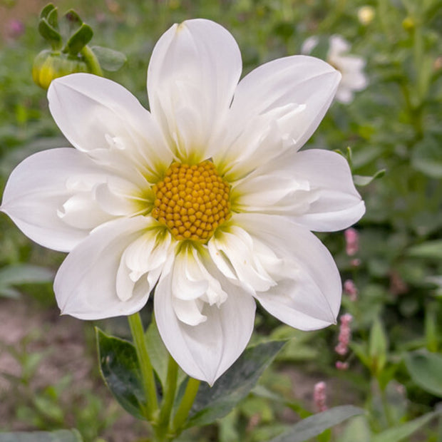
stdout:
[[425,391],[442,397],[442,355],[413,351],[405,355],[405,364],[413,381]]

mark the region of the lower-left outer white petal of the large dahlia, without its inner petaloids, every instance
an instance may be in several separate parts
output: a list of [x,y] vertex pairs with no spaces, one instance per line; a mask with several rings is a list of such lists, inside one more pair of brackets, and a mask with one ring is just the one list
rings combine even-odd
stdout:
[[126,301],[118,297],[117,274],[123,252],[147,227],[150,223],[145,217],[120,218],[98,227],[69,253],[54,282],[62,314],[103,319],[133,314],[144,306],[148,290],[135,290],[131,297],[124,297]]

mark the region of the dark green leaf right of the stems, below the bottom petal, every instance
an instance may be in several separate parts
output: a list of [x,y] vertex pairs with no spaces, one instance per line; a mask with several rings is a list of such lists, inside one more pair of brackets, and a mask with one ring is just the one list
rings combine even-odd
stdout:
[[269,341],[249,347],[212,387],[202,384],[186,427],[207,425],[229,413],[249,394],[285,342]]

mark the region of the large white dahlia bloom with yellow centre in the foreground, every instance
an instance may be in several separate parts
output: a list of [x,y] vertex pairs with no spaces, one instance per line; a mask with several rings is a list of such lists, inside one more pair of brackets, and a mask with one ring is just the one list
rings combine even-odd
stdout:
[[155,317],[170,354],[212,384],[252,334],[255,300],[292,327],[336,321],[341,282],[310,230],[364,213],[344,158],[299,149],[340,74],[324,61],[271,61],[238,83],[222,26],[172,26],[148,68],[150,112],[113,81],[78,73],[48,90],[73,148],[11,173],[1,210],[32,240],[69,252],[54,290],[63,314]]

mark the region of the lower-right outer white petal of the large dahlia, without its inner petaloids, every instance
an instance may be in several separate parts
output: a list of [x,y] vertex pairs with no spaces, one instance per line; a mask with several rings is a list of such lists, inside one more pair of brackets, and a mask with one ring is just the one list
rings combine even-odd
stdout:
[[329,251],[317,237],[284,217],[238,214],[232,222],[292,263],[277,286],[256,297],[282,322],[302,330],[336,322],[341,303],[341,279]]

